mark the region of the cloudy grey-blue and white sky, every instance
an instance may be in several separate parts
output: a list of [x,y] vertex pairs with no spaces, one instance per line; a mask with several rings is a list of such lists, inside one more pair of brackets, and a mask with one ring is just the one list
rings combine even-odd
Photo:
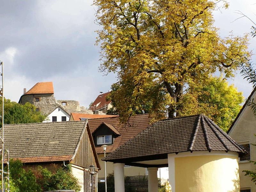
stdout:
[[[0,60],[4,62],[4,95],[18,102],[37,82],[52,81],[57,100],[78,100],[88,107],[100,91],[108,92],[116,75],[103,76],[99,46],[95,46],[93,0],[0,0]],[[240,18],[239,10],[256,21],[255,0],[229,1],[228,10],[214,12],[220,36],[243,36],[252,22]],[[235,21],[234,21],[235,20]],[[232,22],[234,21],[234,22]],[[256,38],[250,40],[256,51]],[[253,56],[253,60],[256,57]],[[238,91],[248,97],[252,85],[239,72],[234,79]]]

